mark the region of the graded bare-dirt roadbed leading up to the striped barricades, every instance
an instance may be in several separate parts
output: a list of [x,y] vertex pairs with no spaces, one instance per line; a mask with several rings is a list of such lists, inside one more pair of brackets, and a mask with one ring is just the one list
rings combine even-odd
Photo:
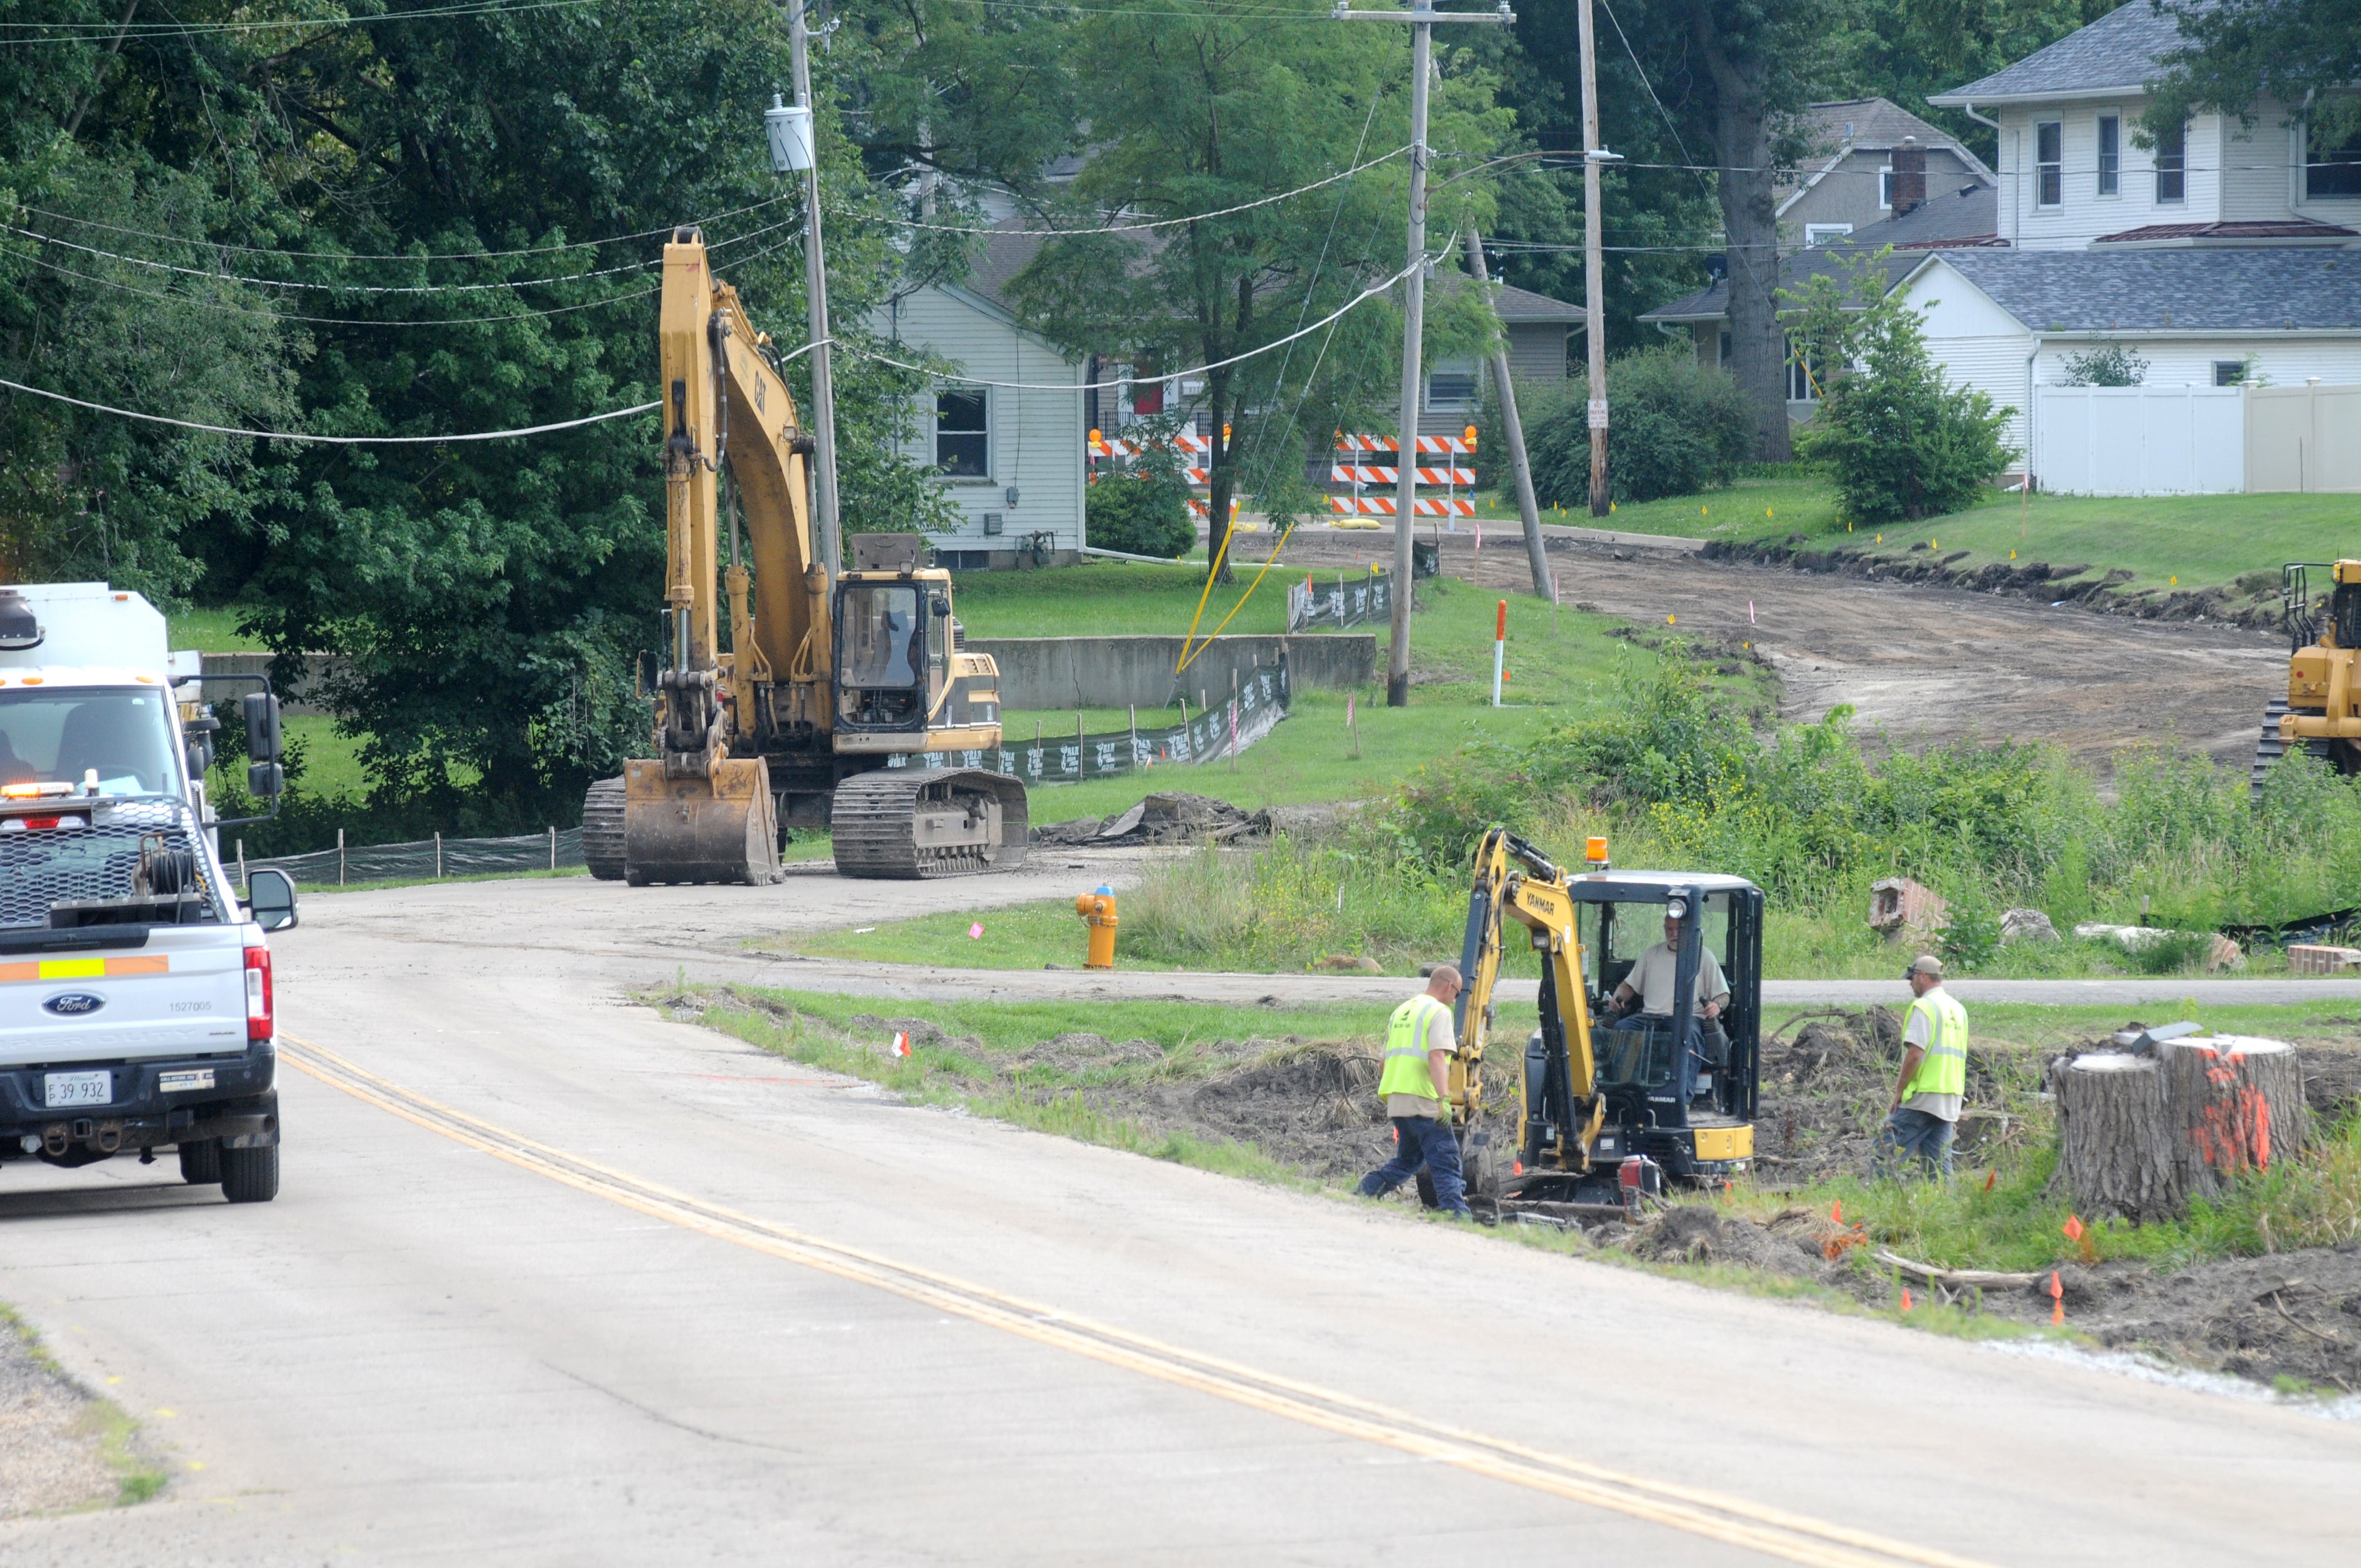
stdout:
[[[1532,593],[1513,524],[1419,531],[1445,576]],[[1863,730],[1896,744],[1967,737],[2052,741],[2111,770],[2123,746],[2179,744],[2245,770],[2262,711],[2285,682],[2285,645],[2212,621],[2141,621],[2049,607],[2021,593],[1884,583],[1790,567],[1707,560],[1690,550],[1587,545],[1551,534],[1549,562],[1568,609],[1624,616],[1702,649],[1757,654],[1780,678],[1780,718],[1813,720],[1851,704]],[[1242,562],[1268,543],[1249,536]],[[1391,560],[1391,534],[1289,538],[1287,567],[1367,569]],[[1417,631],[1412,631],[1417,664]]]

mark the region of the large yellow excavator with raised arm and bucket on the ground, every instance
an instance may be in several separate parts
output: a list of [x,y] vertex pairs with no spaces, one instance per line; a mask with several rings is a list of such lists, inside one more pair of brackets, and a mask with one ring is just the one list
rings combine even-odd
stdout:
[[959,647],[951,576],[916,534],[855,534],[831,590],[812,439],[696,229],[663,248],[659,340],[666,635],[652,682],[642,664],[656,756],[590,786],[590,874],[774,883],[793,827],[829,827],[845,876],[1020,864],[1025,786],[980,765],[1001,744],[999,668]]

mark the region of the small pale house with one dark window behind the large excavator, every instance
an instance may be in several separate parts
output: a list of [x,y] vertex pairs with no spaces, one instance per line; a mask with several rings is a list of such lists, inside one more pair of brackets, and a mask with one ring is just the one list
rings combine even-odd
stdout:
[[[904,451],[940,468],[961,527],[933,534],[944,567],[1065,564],[1081,553],[1086,361],[1018,326],[1001,298],[1032,248],[994,236],[966,283],[892,295],[869,319],[881,338],[949,359],[977,383],[937,383]],[[848,517],[845,529],[859,520]]]

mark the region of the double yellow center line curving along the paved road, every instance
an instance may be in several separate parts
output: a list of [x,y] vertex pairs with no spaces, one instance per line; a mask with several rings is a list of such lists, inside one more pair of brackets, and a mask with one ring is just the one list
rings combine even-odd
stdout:
[[1303,1426],[1360,1438],[1476,1476],[1627,1514],[1792,1563],[1823,1563],[1827,1568],[1891,1568],[1894,1563],[1915,1563],[1917,1568],[1986,1568],[1974,1559],[1917,1542],[1853,1530],[1705,1488],[1613,1471],[1587,1459],[1428,1422],[1426,1417],[1388,1410],[1386,1405],[1374,1405],[1317,1384],[1169,1346],[1088,1318],[1074,1318],[985,1285],[739,1214],[689,1193],[678,1193],[583,1159],[581,1155],[550,1148],[548,1143],[536,1143],[382,1079],[312,1041],[281,1034],[279,1046],[290,1067],[316,1077],[331,1089],[340,1089],[357,1100],[442,1133],[453,1143],[611,1204],[734,1247],[817,1268],[841,1280],[885,1289],[1036,1344],[1126,1367],[1183,1389],[1197,1389],[1199,1393],[1211,1393],[1214,1398],[1263,1410]]

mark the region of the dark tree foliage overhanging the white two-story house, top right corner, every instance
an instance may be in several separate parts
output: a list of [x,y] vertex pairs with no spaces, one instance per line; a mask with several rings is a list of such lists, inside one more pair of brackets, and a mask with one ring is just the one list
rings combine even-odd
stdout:
[[2151,0],[2182,19],[2141,125],[2149,135],[2193,113],[2252,128],[2267,102],[2311,118],[2314,132],[2361,130],[2361,9],[2352,0]]

